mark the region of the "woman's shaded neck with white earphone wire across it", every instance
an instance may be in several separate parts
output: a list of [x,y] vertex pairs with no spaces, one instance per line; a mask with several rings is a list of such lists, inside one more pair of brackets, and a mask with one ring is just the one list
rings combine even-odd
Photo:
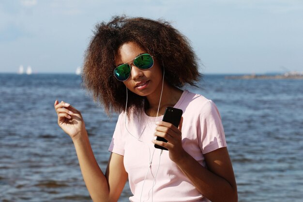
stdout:
[[[146,97],[148,101],[148,107],[145,109],[145,112],[149,116],[157,116],[162,88],[158,89],[158,91]],[[177,87],[170,86],[166,81],[164,81],[158,116],[163,115],[167,107],[173,107],[180,99],[182,92],[182,90],[178,89]]]

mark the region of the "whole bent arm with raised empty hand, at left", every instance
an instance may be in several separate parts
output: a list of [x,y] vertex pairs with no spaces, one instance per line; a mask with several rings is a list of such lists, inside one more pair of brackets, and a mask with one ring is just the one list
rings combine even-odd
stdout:
[[57,100],[54,104],[58,124],[74,142],[80,169],[85,184],[94,202],[117,202],[127,180],[123,156],[112,154],[106,175],[101,171],[95,156],[80,111],[70,104]]

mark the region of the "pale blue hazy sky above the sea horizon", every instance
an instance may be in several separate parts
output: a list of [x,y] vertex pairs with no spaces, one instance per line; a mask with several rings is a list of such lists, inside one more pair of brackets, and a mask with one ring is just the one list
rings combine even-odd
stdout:
[[303,0],[1,0],[0,73],[75,73],[96,23],[165,19],[204,74],[303,72]]

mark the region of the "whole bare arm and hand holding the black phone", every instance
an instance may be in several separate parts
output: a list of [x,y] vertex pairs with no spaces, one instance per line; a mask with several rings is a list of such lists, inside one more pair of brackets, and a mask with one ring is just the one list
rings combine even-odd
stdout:
[[237,185],[227,148],[205,154],[206,169],[183,149],[181,128],[182,120],[179,128],[159,122],[155,136],[163,137],[167,142],[153,140],[153,143],[168,149],[170,159],[206,198],[212,202],[237,202]]

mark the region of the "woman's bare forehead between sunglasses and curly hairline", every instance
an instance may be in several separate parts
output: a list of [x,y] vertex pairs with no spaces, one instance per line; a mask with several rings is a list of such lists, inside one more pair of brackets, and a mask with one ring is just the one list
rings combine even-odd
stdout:
[[127,42],[118,48],[115,58],[116,64],[125,63],[134,60],[139,54],[146,53],[147,51],[137,45],[135,42]]

